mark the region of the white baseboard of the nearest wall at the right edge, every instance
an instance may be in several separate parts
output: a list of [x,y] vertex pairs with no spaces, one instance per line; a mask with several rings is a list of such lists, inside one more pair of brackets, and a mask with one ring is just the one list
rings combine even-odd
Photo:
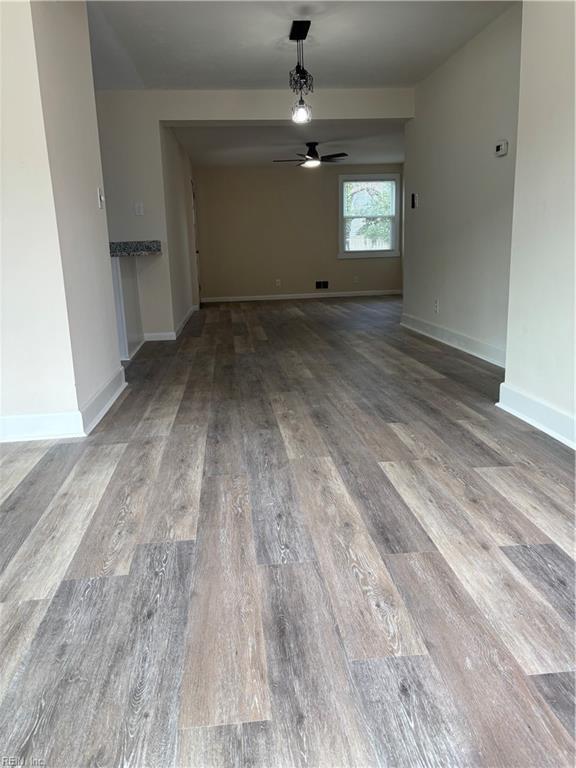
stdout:
[[500,385],[500,400],[496,407],[531,424],[569,448],[576,448],[574,414],[562,411],[544,400],[538,400],[506,382]]

